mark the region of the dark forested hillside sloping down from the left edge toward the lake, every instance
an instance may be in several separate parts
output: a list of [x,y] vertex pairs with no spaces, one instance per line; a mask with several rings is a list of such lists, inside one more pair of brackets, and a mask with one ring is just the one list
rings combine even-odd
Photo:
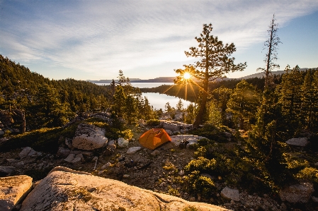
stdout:
[[138,115],[151,118],[153,109],[140,90],[132,88],[123,73],[118,78],[128,83],[112,89],[72,78],[50,80],[0,55],[0,110],[14,111],[21,119],[16,126],[23,128],[25,121],[28,130],[63,126],[76,115],[100,110],[129,121]]

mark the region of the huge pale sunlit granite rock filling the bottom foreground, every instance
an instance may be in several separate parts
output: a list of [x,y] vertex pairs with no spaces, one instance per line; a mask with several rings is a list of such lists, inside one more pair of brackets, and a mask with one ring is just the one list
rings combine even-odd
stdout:
[[[61,167],[60,167],[61,168]],[[72,170],[71,170],[72,171]],[[74,171],[73,171],[74,172]],[[37,210],[226,210],[206,203],[188,202],[112,179],[52,171],[23,201],[21,211]]]

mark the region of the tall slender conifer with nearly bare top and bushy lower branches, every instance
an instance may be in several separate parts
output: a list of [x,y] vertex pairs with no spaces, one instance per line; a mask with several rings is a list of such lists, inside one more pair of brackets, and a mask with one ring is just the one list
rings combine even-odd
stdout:
[[[263,157],[266,162],[278,162],[280,157],[276,152],[278,149],[277,138],[278,133],[281,133],[281,107],[278,104],[277,92],[275,92],[275,85],[271,71],[274,68],[279,68],[278,64],[275,64],[277,58],[277,47],[280,42],[280,38],[276,35],[278,30],[278,24],[275,23],[275,15],[271,20],[271,25],[268,29],[269,38],[264,42],[264,48],[266,50],[264,62],[265,68],[258,68],[265,73],[265,83],[263,96],[261,100],[261,106],[256,114],[256,125],[249,137],[251,146],[259,153],[260,157]],[[271,86],[270,86],[271,85]],[[282,138],[282,135],[280,136]],[[274,152],[274,153],[273,153]],[[277,154],[277,156],[276,156]]]

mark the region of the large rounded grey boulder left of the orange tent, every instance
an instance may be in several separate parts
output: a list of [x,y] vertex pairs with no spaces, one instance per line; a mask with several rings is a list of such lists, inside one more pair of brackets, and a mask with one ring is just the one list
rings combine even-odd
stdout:
[[80,150],[96,150],[107,143],[105,131],[96,126],[81,123],[76,129],[72,146]]

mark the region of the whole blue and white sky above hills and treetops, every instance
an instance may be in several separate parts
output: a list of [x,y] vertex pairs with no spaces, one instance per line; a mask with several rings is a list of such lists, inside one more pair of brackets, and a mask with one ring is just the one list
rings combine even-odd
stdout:
[[268,26],[276,16],[280,70],[288,64],[318,67],[317,0],[0,0],[0,54],[50,79],[116,79],[176,76],[198,59],[203,24],[234,43],[239,78],[265,66]]

